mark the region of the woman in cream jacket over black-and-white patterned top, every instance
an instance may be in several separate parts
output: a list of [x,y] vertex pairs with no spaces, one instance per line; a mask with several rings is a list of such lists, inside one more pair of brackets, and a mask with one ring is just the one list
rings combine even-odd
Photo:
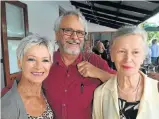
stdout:
[[95,90],[93,119],[158,119],[157,81],[140,71],[147,53],[146,32],[136,26],[120,28],[111,44],[117,76]]

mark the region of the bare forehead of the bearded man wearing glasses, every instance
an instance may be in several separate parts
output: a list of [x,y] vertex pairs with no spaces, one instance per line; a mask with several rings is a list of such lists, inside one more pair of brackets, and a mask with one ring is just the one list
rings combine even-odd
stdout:
[[74,30],[84,31],[84,24],[76,15],[64,16],[60,23],[60,28],[72,28]]

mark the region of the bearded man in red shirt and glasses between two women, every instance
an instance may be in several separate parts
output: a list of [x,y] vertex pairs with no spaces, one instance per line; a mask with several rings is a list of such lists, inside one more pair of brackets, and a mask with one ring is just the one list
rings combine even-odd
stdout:
[[55,22],[59,46],[44,81],[46,97],[56,119],[91,119],[93,93],[116,72],[94,53],[83,53],[87,24],[78,11],[66,11]]

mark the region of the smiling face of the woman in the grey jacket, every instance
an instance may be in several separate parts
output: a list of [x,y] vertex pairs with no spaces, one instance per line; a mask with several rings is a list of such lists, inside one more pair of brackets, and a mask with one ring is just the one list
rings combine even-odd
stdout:
[[27,50],[22,61],[18,62],[22,77],[34,83],[42,83],[51,67],[51,56],[46,46],[35,45]]

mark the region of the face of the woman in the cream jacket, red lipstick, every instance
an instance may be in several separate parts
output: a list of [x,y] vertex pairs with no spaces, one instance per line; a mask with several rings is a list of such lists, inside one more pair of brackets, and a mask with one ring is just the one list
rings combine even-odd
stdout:
[[118,73],[130,76],[138,73],[145,58],[144,41],[140,35],[117,37],[111,47],[111,59]]

